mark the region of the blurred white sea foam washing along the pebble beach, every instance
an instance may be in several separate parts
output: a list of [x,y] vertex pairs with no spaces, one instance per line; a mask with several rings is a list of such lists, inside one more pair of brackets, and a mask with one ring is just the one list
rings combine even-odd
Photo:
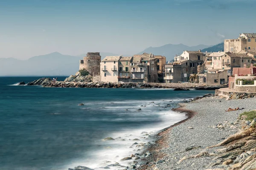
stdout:
[[[155,115],[155,123],[152,124],[145,124],[141,125],[138,128],[134,127],[126,127],[125,129],[120,129],[118,132],[109,133],[106,134],[105,137],[112,137],[116,140],[111,141],[95,141],[96,145],[99,145],[99,150],[94,150],[90,155],[84,156],[86,159],[81,160],[73,160],[72,164],[68,165],[67,168],[73,168],[75,166],[86,166],[90,168],[96,168],[96,167],[105,167],[110,164],[114,164],[116,162],[119,162],[119,164],[124,166],[129,166],[133,159],[128,161],[120,161],[121,159],[130,156],[131,154],[140,153],[138,149],[142,149],[143,147],[136,147],[135,142],[137,143],[144,143],[147,144],[148,142],[152,142],[149,139],[147,135],[142,132],[147,132],[148,135],[154,135],[159,130],[164,129],[166,127],[169,127],[170,125],[173,125],[177,122],[180,122],[183,119],[186,119],[186,115],[184,113],[176,113],[174,111],[170,111],[171,107],[164,108],[157,106],[156,104],[160,104],[160,106],[166,106],[167,104],[172,104],[172,102],[180,102],[183,99],[170,99],[170,100],[154,100],[154,103],[151,103],[152,101],[143,101],[143,100],[133,100],[133,101],[121,101],[121,102],[91,102],[91,103],[85,103],[88,107],[89,105],[100,105],[102,108],[102,111],[118,111],[118,115],[121,114],[129,114],[129,118],[123,119],[123,118],[90,118],[90,121],[108,121],[108,122],[122,122],[122,121],[133,121],[133,122],[145,122],[150,120],[151,115],[154,117]],[[146,105],[146,107],[140,107],[141,105]],[[142,111],[137,111],[138,108],[141,108]],[[93,108],[92,108],[93,109]],[[99,108],[97,108],[99,109]],[[128,109],[128,111],[125,111],[125,109]],[[159,109],[162,109],[162,111],[159,111]],[[132,116],[131,116],[132,115]],[[138,116],[139,115],[139,116]],[[140,117],[139,119],[137,117]],[[152,120],[150,120],[152,121]],[[118,128],[118,127],[117,127]],[[121,140],[122,139],[122,140]],[[140,141],[134,141],[134,139],[139,139]],[[110,161],[106,164],[102,163],[102,161]],[[120,169],[120,167],[111,167],[112,170]]]

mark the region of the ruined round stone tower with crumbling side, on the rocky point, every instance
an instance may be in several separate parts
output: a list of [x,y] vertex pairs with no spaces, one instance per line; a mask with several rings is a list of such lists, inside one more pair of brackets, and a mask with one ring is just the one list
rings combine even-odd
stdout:
[[100,74],[101,56],[99,53],[87,53],[84,59],[80,60],[79,70],[85,68],[91,76]]

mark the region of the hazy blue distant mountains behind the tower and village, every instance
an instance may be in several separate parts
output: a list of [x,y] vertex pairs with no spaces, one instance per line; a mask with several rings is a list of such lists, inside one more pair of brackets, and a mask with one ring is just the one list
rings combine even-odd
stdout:
[[[210,47],[209,45],[197,45],[189,47],[187,45],[167,44],[161,47],[149,47],[142,53],[152,53],[154,55],[163,55],[169,61],[175,54],[181,54],[183,50],[188,51],[212,51],[217,52],[224,48],[224,43]],[[103,58],[106,56],[117,56],[119,54],[100,52]],[[15,58],[0,58],[0,76],[69,76],[79,70],[79,60],[86,54],[79,56],[63,55],[58,52],[31,57],[27,60]],[[131,55],[124,55],[131,56]]]

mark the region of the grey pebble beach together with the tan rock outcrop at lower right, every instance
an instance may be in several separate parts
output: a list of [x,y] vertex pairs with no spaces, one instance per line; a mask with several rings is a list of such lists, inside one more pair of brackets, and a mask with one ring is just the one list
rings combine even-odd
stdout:
[[[192,118],[157,134],[137,170],[255,170],[256,129],[244,111],[255,109],[256,99],[225,100],[218,96],[184,103],[177,112]],[[228,108],[244,108],[226,112]]]

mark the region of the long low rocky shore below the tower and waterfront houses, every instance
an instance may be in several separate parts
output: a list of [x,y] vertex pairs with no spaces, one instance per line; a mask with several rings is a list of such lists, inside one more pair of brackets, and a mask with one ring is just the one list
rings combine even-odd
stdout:
[[[87,79],[87,78],[86,78]],[[196,90],[215,90],[227,87],[227,85],[206,86],[197,83],[124,83],[124,82],[81,82],[77,81],[52,81],[49,78],[41,78],[27,85],[42,85],[44,87],[58,87],[58,88],[174,88],[176,90],[184,90],[193,88]]]

